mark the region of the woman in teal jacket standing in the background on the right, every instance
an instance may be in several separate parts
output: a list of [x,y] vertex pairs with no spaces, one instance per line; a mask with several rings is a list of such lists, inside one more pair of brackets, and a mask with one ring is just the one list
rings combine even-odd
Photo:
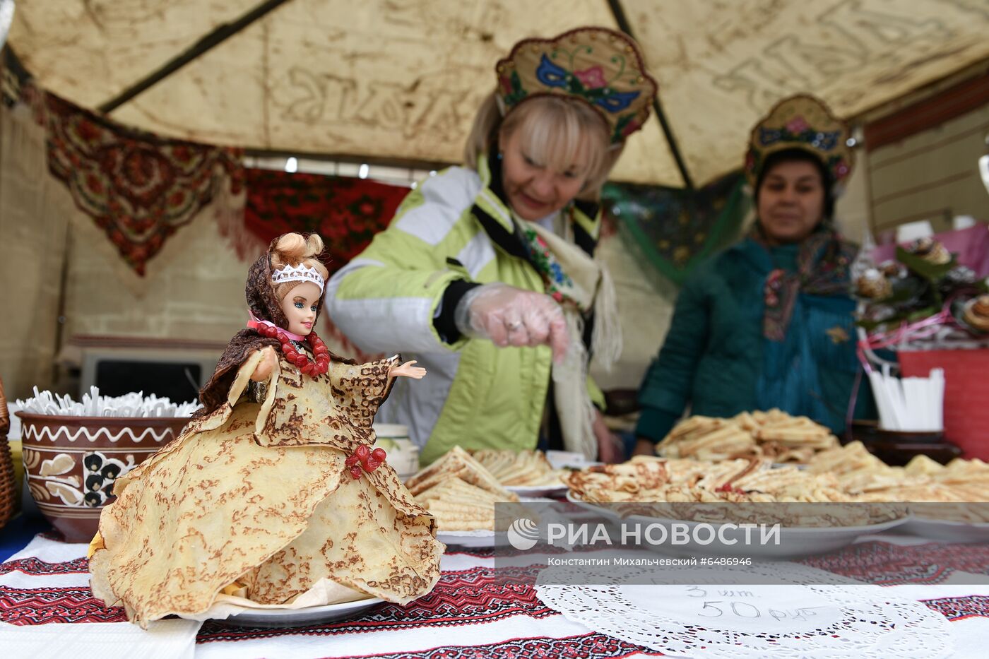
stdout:
[[853,164],[848,138],[803,95],[777,104],[753,130],[746,173],[756,225],[683,285],[640,389],[636,453],[652,453],[688,407],[707,417],[779,408],[844,430],[860,370],[856,247],[832,226],[835,188]]

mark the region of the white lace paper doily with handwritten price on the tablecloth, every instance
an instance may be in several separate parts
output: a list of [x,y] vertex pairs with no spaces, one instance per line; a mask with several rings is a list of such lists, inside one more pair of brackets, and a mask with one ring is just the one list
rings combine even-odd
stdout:
[[[648,583],[649,573],[642,568],[639,580],[624,570],[623,579]],[[743,585],[732,586],[738,583],[732,575]],[[672,656],[920,659],[953,651],[943,614],[878,586],[829,576],[840,585],[805,586],[820,583],[821,573],[794,563],[717,573],[685,568],[677,585],[654,586],[615,584],[607,567],[554,566],[543,570],[536,592],[570,620]],[[784,583],[746,585],[760,577]],[[575,581],[602,585],[550,585]]]

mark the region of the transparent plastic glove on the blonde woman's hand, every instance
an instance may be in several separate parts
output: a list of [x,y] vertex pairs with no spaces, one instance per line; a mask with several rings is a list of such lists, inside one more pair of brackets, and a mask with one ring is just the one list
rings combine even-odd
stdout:
[[471,289],[460,299],[453,319],[462,334],[490,338],[499,347],[547,343],[554,361],[564,358],[570,343],[567,321],[556,300],[507,284]]

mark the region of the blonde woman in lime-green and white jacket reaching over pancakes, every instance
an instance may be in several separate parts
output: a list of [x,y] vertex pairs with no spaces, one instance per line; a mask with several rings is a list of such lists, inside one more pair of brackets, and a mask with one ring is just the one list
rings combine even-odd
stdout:
[[656,83],[638,46],[602,28],[525,40],[495,69],[465,166],[413,190],[333,275],[326,304],[362,349],[398,348],[429,371],[380,415],[408,425],[422,461],[457,444],[531,449],[540,435],[614,461],[586,377],[590,350],[607,361],[620,349],[593,259],[597,199]]

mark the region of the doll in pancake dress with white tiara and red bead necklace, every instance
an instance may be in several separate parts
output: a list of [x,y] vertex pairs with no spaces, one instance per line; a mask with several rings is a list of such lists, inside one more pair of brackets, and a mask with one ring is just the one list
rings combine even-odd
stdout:
[[[371,426],[395,376],[425,371],[329,353],[312,331],[321,249],[317,235],[272,242],[247,276],[249,327],[200,392],[203,410],[117,481],[92,545],[93,594],[142,626],[203,616],[231,595],[405,604],[439,578],[435,522]],[[314,601],[320,592],[331,601]]]

